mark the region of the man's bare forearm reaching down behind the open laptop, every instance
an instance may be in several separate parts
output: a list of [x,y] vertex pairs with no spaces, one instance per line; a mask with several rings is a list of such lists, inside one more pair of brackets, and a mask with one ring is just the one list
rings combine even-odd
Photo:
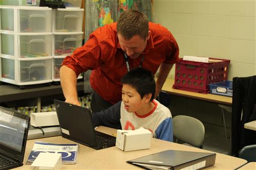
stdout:
[[75,72],[71,68],[63,65],[60,67],[59,75],[61,88],[66,99],[65,102],[80,106],[76,89],[77,77]]

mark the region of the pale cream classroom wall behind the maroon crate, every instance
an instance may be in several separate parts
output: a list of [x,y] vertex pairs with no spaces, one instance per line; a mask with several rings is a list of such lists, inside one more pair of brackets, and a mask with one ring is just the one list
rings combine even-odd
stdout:
[[228,80],[256,75],[254,0],[154,0],[154,15],[173,33],[180,57],[229,59]]

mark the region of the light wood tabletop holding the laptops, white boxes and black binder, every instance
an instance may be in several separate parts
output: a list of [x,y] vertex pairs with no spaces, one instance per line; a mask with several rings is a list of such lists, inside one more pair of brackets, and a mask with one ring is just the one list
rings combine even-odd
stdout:
[[[98,131],[105,132],[108,134],[116,133],[115,129],[106,127],[99,127]],[[28,140],[24,164],[28,159],[28,155],[32,150],[35,141],[44,141],[51,143],[75,143],[74,141],[62,138],[61,136]],[[210,152],[155,138],[153,138],[152,140],[151,149],[131,152],[123,152],[117,147],[111,147],[102,150],[94,150],[89,147],[86,147],[85,145],[79,144],[77,163],[62,165],[61,169],[141,169],[137,166],[126,163],[126,161],[165,150]],[[247,161],[244,159],[217,153],[215,165],[205,169],[234,169],[244,165],[246,162]],[[16,169],[30,169],[30,165],[25,164]]]

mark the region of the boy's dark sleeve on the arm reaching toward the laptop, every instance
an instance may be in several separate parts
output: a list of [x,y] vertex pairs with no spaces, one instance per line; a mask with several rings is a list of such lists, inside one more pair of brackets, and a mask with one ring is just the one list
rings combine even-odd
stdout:
[[121,102],[109,107],[108,109],[102,110],[97,113],[92,114],[93,125],[96,126],[106,126],[114,129],[121,129],[120,123],[120,107]]

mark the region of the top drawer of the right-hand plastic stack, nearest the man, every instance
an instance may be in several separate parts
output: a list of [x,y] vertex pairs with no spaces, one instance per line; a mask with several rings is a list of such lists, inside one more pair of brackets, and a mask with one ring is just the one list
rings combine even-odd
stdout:
[[54,10],[54,32],[81,32],[83,9]]

